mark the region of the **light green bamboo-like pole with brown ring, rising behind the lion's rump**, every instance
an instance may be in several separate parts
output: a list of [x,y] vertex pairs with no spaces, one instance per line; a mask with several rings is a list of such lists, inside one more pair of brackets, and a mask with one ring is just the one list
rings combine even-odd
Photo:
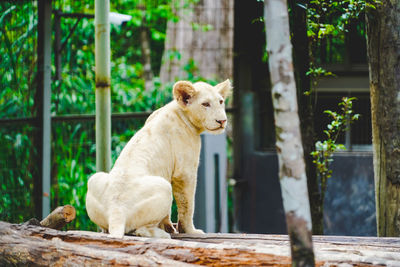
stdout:
[[109,0],[95,0],[96,168],[111,166],[110,23]]

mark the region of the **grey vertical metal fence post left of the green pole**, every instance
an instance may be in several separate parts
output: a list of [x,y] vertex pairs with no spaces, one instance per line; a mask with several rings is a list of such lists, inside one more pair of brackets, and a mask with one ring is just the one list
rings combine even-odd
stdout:
[[[39,175],[35,181],[35,212],[37,217],[50,213],[50,164],[51,164],[51,0],[38,3],[38,79],[36,100],[38,114]],[[39,181],[40,180],[40,181]]]

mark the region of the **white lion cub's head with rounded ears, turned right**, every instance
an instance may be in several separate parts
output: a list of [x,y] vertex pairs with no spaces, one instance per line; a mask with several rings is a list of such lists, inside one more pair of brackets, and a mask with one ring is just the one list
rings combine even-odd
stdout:
[[225,99],[231,90],[229,80],[216,86],[204,82],[192,84],[179,81],[174,85],[173,94],[179,107],[200,131],[219,134],[225,130],[227,124]]

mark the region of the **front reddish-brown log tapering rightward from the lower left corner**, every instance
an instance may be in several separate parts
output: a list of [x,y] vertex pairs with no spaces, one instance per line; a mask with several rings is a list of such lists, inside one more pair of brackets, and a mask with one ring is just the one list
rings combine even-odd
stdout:
[[125,236],[85,231],[57,231],[33,225],[0,222],[2,265],[133,265],[289,266],[277,256],[244,246]]

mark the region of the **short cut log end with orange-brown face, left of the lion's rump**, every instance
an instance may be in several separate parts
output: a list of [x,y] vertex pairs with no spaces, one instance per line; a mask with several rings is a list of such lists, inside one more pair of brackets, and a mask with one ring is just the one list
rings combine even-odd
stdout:
[[75,219],[76,211],[71,205],[57,207],[46,218],[44,218],[40,225],[56,230],[60,230],[67,223]]

